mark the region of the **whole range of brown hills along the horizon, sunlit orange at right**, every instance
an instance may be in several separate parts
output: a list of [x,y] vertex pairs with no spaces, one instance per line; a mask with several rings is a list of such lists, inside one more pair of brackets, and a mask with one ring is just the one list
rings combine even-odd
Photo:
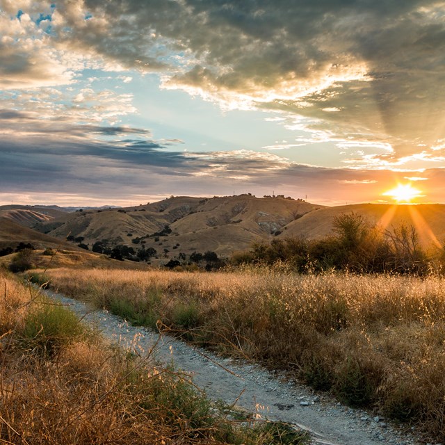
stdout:
[[[94,247],[95,252],[110,254],[115,246],[124,246],[129,256],[143,249],[160,259],[204,252],[229,257],[235,251],[249,249],[255,242],[289,237],[323,238],[332,234],[334,218],[351,212],[364,216],[370,225],[390,231],[402,224],[414,226],[426,248],[445,239],[444,204],[325,207],[284,196],[259,198],[245,194],[211,198],[172,196],[133,207],[76,211],[60,207],[6,207],[0,207],[0,211],[9,212],[9,217],[15,216],[22,225],[31,224],[32,212],[38,212],[40,218],[33,225],[38,235],[25,234],[17,228],[20,226],[15,229],[9,226],[13,236],[7,234],[3,241],[39,240],[39,236],[47,234],[52,237],[51,247],[54,238],[66,241],[68,237],[71,247],[82,244],[83,248]],[[23,212],[29,216],[24,221],[17,218]]]

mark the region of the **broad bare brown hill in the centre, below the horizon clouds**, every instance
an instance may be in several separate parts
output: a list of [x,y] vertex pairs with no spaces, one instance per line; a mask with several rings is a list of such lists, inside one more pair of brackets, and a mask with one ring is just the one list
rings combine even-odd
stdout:
[[[166,258],[208,250],[228,256],[259,238],[273,237],[284,225],[320,207],[282,197],[170,197],[125,209],[76,211],[39,229],[58,238],[82,236],[90,247],[102,240],[135,248],[145,245]],[[163,231],[165,226],[171,232]]]

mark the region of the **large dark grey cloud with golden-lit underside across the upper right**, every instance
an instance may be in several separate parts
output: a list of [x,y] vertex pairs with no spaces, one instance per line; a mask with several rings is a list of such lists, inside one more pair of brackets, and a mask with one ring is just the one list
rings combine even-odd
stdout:
[[442,2],[86,0],[83,8],[88,25],[60,11],[77,45],[161,69],[167,88],[306,116],[330,135],[391,144],[389,160],[444,136]]

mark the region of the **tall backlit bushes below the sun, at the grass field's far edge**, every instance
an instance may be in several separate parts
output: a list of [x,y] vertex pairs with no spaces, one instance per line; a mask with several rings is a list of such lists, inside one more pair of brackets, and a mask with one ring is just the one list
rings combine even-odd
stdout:
[[236,252],[232,264],[286,263],[299,273],[347,270],[354,273],[428,273],[432,259],[419,245],[414,227],[392,232],[372,227],[357,213],[334,218],[334,234],[319,240],[276,238]]

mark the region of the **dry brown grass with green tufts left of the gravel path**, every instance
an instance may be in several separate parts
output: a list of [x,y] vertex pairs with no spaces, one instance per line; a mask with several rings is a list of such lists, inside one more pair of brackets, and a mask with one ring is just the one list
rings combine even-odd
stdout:
[[[0,442],[303,444],[277,423],[238,428],[149,351],[125,353],[0,270]],[[277,440],[282,435],[288,442]]]

